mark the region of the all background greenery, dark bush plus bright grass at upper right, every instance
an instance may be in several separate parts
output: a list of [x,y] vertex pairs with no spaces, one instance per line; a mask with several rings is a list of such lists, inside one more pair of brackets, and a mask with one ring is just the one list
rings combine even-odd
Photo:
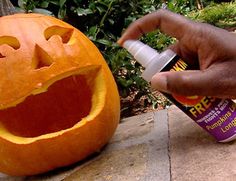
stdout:
[[[210,6],[198,11],[199,2],[201,5]],[[141,105],[144,107],[148,104],[165,107],[169,102],[151,93],[148,83],[140,77],[142,67],[115,43],[131,22],[163,6],[173,12],[217,26],[221,26],[222,22],[235,25],[236,20],[235,2],[215,5],[208,0],[18,0],[18,4],[25,12],[54,14],[86,34],[105,57],[121,98],[132,95],[132,103],[144,100]],[[174,38],[158,30],[148,33],[141,40],[158,51],[175,42]],[[132,103],[122,107],[122,110],[132,107]]]

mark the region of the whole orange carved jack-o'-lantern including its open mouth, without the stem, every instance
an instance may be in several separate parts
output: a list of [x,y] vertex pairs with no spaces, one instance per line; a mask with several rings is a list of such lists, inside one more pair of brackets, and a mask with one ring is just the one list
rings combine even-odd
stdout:
[[0,172],[38,174],[103,147],[119,96],[92,42],[40,14],[4,16],[0,27]]

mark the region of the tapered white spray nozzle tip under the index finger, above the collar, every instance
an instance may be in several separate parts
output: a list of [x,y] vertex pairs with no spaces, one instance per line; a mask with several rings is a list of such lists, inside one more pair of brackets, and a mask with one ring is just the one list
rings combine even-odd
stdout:
[[156,50],[138,40],[127,40],[124,42],[123,47],[145,68],[153,58],[159,56]]

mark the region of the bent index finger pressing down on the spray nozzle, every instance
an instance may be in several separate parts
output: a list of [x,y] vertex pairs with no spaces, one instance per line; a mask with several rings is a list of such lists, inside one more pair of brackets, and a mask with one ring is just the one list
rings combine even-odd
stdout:
[[122,45],[128,39],[138,39],[155,29],[160,29],[163,33],[180,40],[191,27],[192,21],[184,16],[160,9],[131,23],[118,43]]

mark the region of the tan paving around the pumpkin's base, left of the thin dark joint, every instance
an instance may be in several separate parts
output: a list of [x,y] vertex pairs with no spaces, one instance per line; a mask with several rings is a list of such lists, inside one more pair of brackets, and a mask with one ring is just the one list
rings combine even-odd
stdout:
[[0,180],[170,181],[167,110],[122,120],[100,154],[70,167],[33,177]]

